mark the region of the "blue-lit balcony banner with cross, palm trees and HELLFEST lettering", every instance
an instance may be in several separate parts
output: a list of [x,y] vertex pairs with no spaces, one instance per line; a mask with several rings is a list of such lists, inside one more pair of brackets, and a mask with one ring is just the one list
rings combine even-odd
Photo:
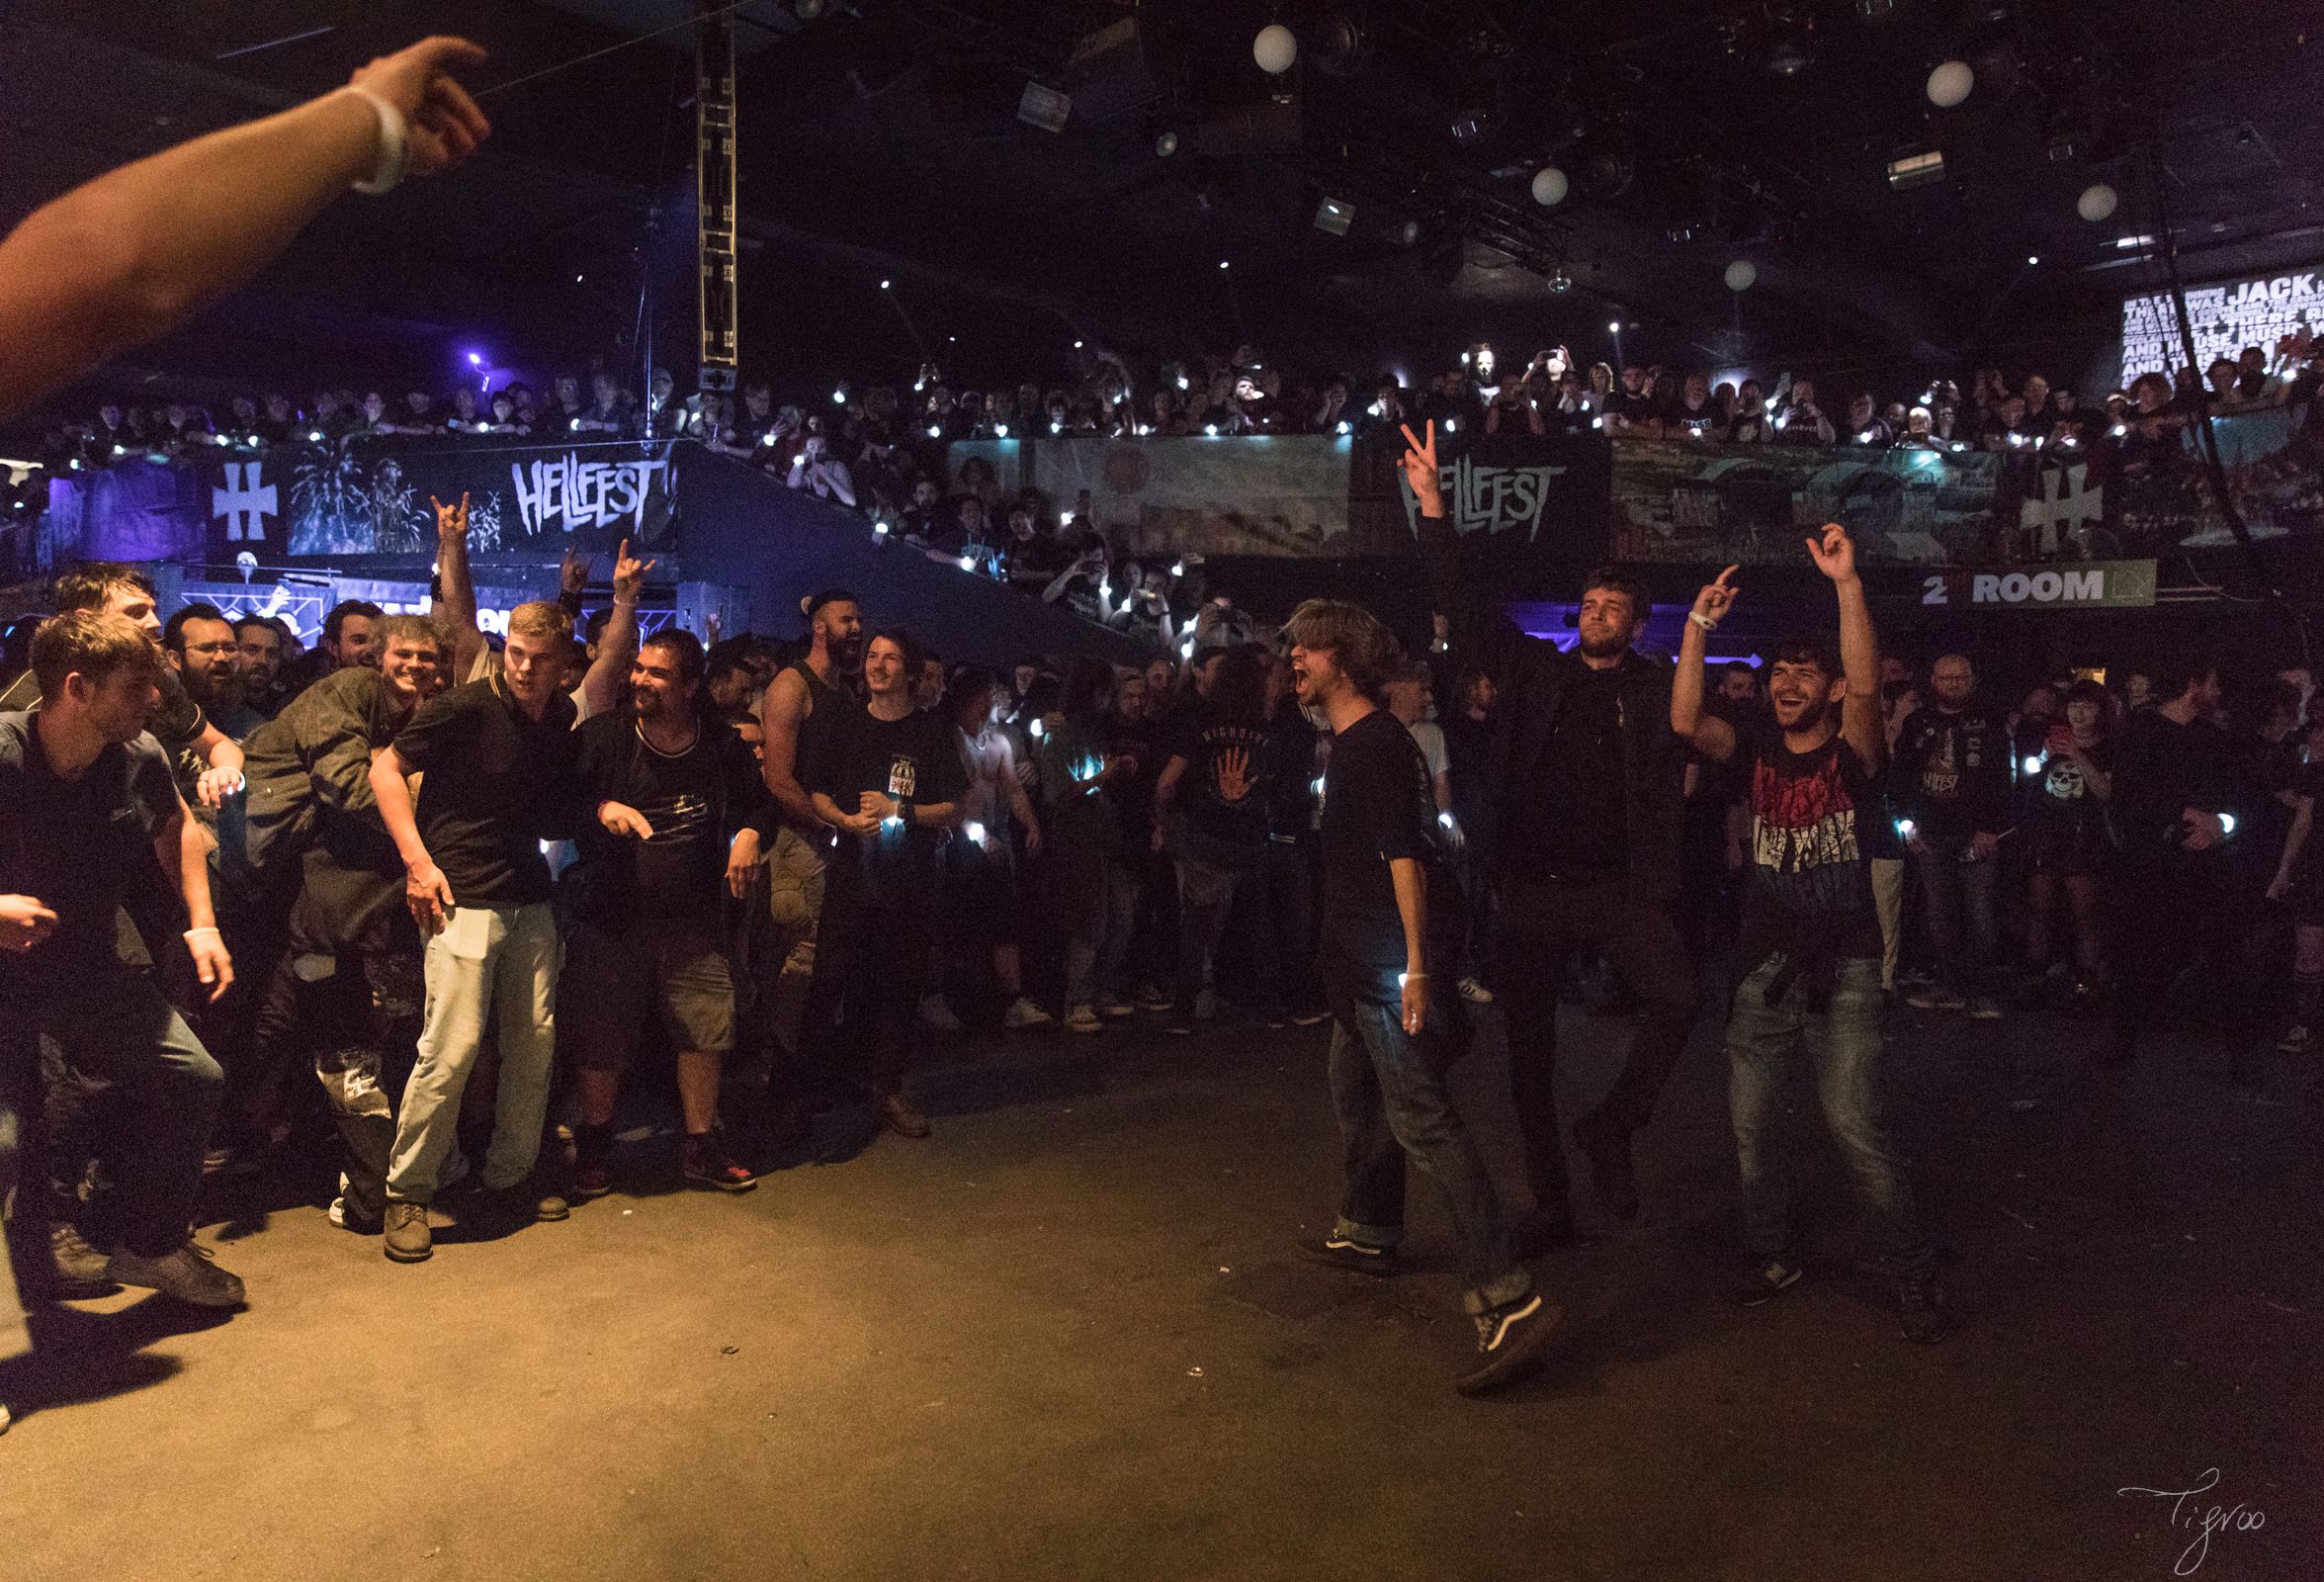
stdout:
[[479,555],[667,546],[676,479],[669,441],[595,446],[277,446],[191,462],[209,504],[211,553],[270,558],[414,555],[435,546],[430,495],[469,497]]

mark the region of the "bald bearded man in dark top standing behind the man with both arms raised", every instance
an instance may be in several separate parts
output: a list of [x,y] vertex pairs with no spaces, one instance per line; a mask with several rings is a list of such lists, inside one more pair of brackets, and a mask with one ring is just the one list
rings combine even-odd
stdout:
[[1896,736],[1889,785],[1896,832],[1929,897],[1936,983],[1906,999],[1920,1011],[1994,1020],[1992,976],[2001,962],[2001,836],[2010,827],[2010,729],[1978,697],[1966,653],[1938,655],[1929,695]]

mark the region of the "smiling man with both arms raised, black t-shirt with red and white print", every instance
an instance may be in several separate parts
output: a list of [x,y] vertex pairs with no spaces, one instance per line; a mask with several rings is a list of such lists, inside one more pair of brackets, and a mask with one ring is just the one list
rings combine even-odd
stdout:
[[1778,1131],[1792,1064],[1806,1055],[1824,1122],[1887,1241],[1903,1336],[1941,1340],[1948,1317],[1936,1243],[1878,1096],[1880,918],[1864,825],[1880,815],[1880,655],[1848,530],[1827,523],[1808,553],[1838,592],[1841,650],[1822,639],[1776,643],[1771,722],[1738,732],[1703,709],[1703,639],[1734,604],[1734,567],[1694,595],[1671,685],[1671,729],[1703,757],[1750,774],[1743,983],[1727,1013],[1727,1092],[1752,1268],[1734,1301],[1759,1306],[1801,1278]]

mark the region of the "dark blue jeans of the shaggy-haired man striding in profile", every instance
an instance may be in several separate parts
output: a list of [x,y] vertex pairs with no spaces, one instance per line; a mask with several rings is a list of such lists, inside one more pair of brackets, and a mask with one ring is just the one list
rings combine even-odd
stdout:
[[1508,1252],[1508,1222],[1492,1175],[1446,1094],[1420,1059],[1397,1006],[1360,999],[1332,1020],[1332,1108],[1339,1113],[1346,1192],[1341,1236],[1373,1247],[1404,1238],[1404,1162],[1436,1180],[1459,1243],[1462,1306],[1499,1308],[1532,1289]]

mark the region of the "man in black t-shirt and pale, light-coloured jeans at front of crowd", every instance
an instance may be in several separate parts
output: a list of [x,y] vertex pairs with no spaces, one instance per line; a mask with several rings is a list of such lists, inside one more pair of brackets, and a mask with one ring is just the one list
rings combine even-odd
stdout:
[[[430,1254],[428,1203],[460,1122],[483,1024],[497,1011],[500,1106],[483,1189],[495,1217],[562,1220],[565,1199],[523,1194],[541,1148],[555,1050],[558,932],[541,841],[579,832],[572,618],[518,604],[497,676],[421,704],[372,760],[372,794],[404,860],[425,945],[428,1008],[388,1164],[386,1254]],[[418,774],[414,806],[407,776]],[[530,1199],[523,1201],[521,1199]]]

